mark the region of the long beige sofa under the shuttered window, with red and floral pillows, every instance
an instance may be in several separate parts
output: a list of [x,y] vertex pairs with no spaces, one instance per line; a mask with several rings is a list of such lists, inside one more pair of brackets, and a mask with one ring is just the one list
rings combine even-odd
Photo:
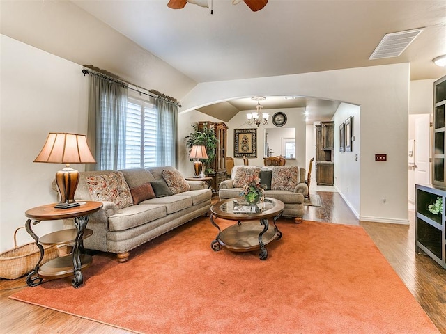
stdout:
[[[84,247],[116,253],[124,262],[133,248],[206,214],[211,190],[204,182],[183,177],[178,181],[172,175],[178,177],[180,173],[167,166],[82,172],[75,200],[100,200],[104,205],[90,216],[87,228],[93,235],[84,240]],[[171,189],[174,193],[169,193]],[[65,223],[72,228],[72,221]]]

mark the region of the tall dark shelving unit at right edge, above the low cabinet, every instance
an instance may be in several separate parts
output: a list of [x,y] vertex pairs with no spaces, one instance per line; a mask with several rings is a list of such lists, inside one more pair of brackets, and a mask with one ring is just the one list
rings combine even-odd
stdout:
[[445,105],[446,77],[433,83],[433,180],[436,186],[445,182]]

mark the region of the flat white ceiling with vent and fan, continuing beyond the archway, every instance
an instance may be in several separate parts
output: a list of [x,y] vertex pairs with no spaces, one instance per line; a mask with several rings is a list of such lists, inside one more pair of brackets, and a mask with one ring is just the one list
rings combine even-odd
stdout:
[[[394,63],[410,63],[411,80],[446,74],[432,63],[446,54],[445,0],[269,0],[257,12],[243,2],[211,1],[213,14],[192,3],[174,10],[168,0],[72,0],[197,83]],[[418,28],[401,56],[369,60],[386,33]],[[339,105],[266,97],[264,111],[302,106],[309,121],[329,119]],[[248,98],[199,111],[227,121],[255,106]]]

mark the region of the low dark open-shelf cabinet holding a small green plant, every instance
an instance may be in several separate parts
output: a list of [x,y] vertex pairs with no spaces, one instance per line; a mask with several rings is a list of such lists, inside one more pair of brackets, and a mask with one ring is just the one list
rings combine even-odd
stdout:
[[[415,251],[429,255],[446,269],[445,199],[446,191],[443,189],[415,185]],[[441,203],[442,212],[436,214],[429,210],[429,205],[435,202]]]

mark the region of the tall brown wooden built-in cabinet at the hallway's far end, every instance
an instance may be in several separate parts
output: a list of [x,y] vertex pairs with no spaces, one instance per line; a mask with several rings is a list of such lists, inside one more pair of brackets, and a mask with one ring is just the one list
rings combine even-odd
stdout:
[[334,184],[334,122],[321,122],[316,125],[316,183]]

